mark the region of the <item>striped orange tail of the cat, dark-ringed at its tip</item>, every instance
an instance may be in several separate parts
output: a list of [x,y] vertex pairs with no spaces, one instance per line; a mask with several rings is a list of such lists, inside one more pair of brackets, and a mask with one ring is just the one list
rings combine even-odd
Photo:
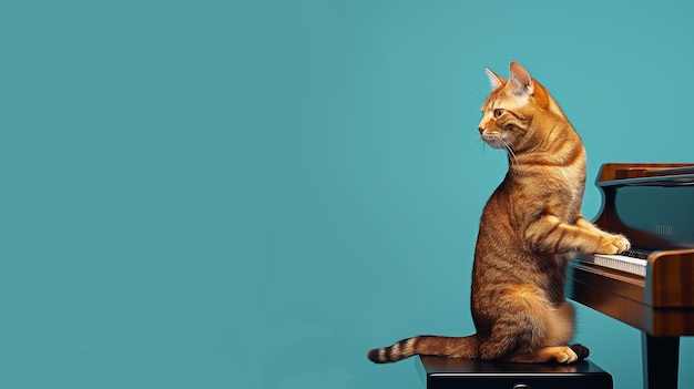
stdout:
[[368,358],[375,364],[395,362],[412,356],[443,356],[461,359],[479,357],[477,335],[447,337],[422,335],[402,339],[390,347],[375,348]]

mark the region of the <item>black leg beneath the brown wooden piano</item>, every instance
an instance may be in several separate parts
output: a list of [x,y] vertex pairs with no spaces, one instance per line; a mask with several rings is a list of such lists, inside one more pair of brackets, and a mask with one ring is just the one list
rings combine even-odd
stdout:
[[654,337],[641,332],[644,389],[677,389],[680,337]]

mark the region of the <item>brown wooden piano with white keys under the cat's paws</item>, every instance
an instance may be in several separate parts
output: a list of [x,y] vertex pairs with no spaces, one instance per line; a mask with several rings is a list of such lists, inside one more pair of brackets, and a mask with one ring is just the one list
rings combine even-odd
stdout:
[[594,223],[632,250],[581,255],[567,296],[642,331],[644,388],[676,389],[680,337],[694,335],[694,164],[602,166]]

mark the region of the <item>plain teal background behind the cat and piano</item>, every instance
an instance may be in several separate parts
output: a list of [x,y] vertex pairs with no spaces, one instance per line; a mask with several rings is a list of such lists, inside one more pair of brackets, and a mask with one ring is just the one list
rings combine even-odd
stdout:
[[[520,61],[604,162],[692,162],[681,1],[4,1],[0,386],[422,388],[467,335],[477,124]],[[640,334],[576,339],[641,386]],[[681,388],[694,386],[682,340]]]

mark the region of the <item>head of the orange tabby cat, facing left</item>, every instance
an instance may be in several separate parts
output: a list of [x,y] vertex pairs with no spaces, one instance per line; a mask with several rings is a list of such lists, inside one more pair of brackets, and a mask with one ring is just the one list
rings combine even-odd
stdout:
[[518,62],[509,65],[508,80],[486,69],[492,91],[482,104],[479,132],[494,149],[518,154],[538,141],[533,119],[553,111],[563,116],[547,90]]

